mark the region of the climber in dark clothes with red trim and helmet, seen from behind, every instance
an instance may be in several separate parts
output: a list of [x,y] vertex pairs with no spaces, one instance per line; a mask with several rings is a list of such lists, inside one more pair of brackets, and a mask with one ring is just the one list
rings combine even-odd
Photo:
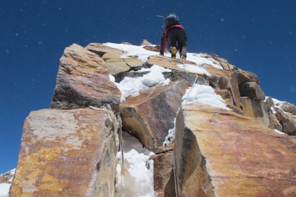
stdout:
[[[169,14],[166,19],[164,19],[164,25],[166,26],[166,29],[164,30],[162,40],[160,42],[160,55],[164,55],[166,42],[168,42],[171,58],[176,58],[177,50],[179,50],[180,58],[186,59],[187,35],[184,27],[180,25],[178,16],[176,14]],[[178,42],[178,46],[176,45],[176,42]]]

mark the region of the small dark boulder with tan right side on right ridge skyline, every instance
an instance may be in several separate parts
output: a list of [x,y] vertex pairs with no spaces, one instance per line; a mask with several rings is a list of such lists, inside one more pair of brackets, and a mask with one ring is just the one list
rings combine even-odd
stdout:
[[240,96],[254,100],[265,100],[265,93],[256,82],[247,82],[240,85]]

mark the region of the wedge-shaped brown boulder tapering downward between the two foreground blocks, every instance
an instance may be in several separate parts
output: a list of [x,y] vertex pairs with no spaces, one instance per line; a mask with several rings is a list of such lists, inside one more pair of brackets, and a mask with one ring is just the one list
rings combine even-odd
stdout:
[[157,85],[142,90],[137,97],[127,97],[120,104],[123,129],[132,132],[149,150],[164,152],[163,142],[182,102],[185,90],[191,86],[185,80]]

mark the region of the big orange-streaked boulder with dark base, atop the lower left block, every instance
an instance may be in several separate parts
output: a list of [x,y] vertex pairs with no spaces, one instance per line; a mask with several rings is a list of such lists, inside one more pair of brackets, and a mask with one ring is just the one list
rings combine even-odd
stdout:
[[118,110],[121,93],[109,80],[107,65],[98,55],[79,45],[65,49],[60,59],[53,109],[76,109],[109,103]]

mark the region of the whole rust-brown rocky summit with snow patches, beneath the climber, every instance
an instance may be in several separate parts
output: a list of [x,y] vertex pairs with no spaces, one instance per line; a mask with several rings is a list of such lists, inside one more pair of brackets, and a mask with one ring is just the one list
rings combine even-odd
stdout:
[[67,47],[50,109],[26,118],[1,182],[10,196],[123,196],[123,130],[155,153],[135,196],[296,196],[295,104],[216,54],[181,61],[148,40]]

